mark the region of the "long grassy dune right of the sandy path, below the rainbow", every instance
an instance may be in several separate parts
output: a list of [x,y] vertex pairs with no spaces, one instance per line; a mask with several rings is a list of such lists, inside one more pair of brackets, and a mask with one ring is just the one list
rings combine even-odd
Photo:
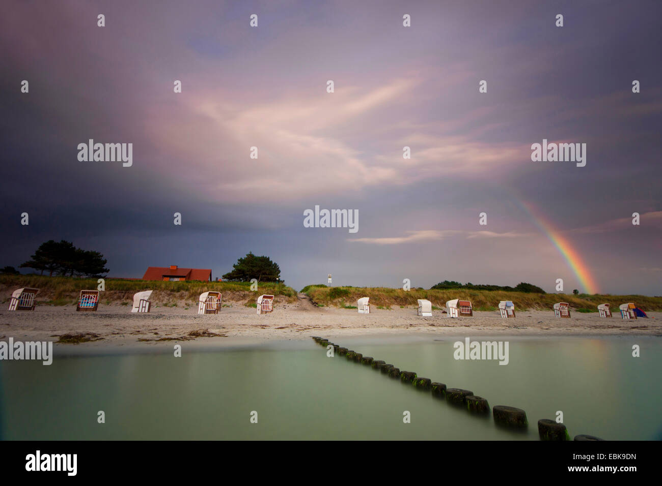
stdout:
[[551,309],[556,302],[567,302],[575,309],[588,309],[597,312],[598,304],[609,303],[618,312],[618,305],[634,302],[643,311],[662,311],[662,297],[648,296],[610,296],[587,294],[527,294],[524,292],[502,292],[489,290],[422,290],[413,289],[405,292],[400,288],[361,288],[361,287],[325,287],[307,286],[303,292],[308,294],[317,305],[335,305],[347,307],[356,305],[360,297],[369,297],[370,304],[381,307],[400,307],[418,305],[416,300],[427,299],[436,307],[445,307],[452,299],[471,300],[478,311],[494,311],[501,300],[512,300],[516,309]]

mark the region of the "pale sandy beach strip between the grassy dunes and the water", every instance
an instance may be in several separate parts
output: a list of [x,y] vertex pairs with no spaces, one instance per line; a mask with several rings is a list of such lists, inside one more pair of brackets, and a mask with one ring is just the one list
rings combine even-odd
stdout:
[[[553,311],[516,311],[502,319],[496,312],[475,311],[472,317],[449,319],[434,311],[418,317],[414,307],[355,309],[315,307],[303,294],[293,304],[279,303],[273,313],[257,315],[252,307],[233,303],[216,315],[198,315],[197,309],[155,307],[150,313],[130,313],[124,305],[99,305],[97,312],[76,312],[75,307],[38,305],[34,311],[0,311],[0,339],[54,341],[58,346],[156,346],[173,342],[232,345],[325,337],[391,336],[535,336],[657,335],[662,336],[662,313],[649,319],[624,320],[620,315],[600,318],[598,313],[571,311],[570,319],[556,319]],[[83,343],[58,343],[62,335],[84,335]],[[159,346],[160,347],[160,346]]]

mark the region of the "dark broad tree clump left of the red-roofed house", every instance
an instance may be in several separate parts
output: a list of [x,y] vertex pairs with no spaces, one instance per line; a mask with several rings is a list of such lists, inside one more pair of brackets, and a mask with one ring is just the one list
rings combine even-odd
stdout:
[[85,251],[73,246],[70,241],[48,240],[42,243],[30,257],[21,263],[21,268],[46,270],[49,276],[54,273],[64,276],[101,276],[108,272],[107,260],[98,251]]

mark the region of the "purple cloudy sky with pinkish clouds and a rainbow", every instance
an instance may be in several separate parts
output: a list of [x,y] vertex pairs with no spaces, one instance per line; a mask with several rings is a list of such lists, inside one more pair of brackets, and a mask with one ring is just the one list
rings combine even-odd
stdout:
[[[113,277],[216,278],[252,251],[297,289],[331,273],[660,296],[661,15],[659,1],[7,1],[0,266],[66,239]],[[79,161],[89,139],[132,143],[132,165]],[[586,165],[533,161],[543,140],[585,143]],[[305,227],[315,206],[357,211],[357,231]]]

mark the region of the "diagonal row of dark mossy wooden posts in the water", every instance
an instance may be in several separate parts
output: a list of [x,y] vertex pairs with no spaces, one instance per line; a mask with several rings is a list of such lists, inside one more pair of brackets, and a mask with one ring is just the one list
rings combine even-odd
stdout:
[[[355,363],[371,366],[373,370],[380,371],[381,374],[385,374],[389,378],[399,379],[401,382],[412,384],[418,389],[430,390],[434,397],[446,399],[449,404],[463,407],[474,415],[485,416],[490,413],[490,405],[487,399],[474,395],[473,391],[461,388],[447,388],[446,384],[432,382],[430,378],[422,378],[415,372],[400,370],[393,366],[393,364],[387,364],[383,360],[375,360],[371,356],[363,356],[363,354],[354,350],[330,343],[328,339],[318,336],[312,336],[312,339],[325,348],[332,346],[334,353],[337,353],[338,356],[345,356],[348,360]],[[526,430],[528,428],[526,412],[522,409],[508,407],[506,405],[495,405],[492,408],[492,414],[498,426],[504,426],[514,430]],[[570,440],[565,425],[551,419],[541,419],[538,421],[538,434],[541,440]],[[575,436],[575,440],[603,439],[591,435],[577,435]]]

